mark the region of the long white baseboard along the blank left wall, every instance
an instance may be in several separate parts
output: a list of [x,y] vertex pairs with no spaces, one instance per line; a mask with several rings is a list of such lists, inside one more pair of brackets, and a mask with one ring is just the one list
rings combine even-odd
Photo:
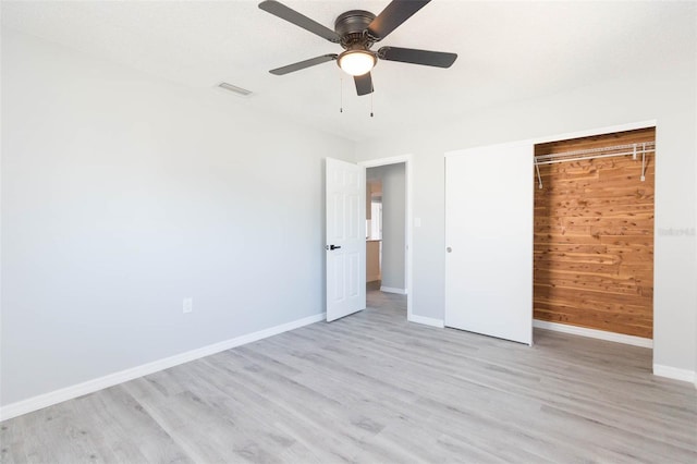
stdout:
[[291,322],[282,323],[280,326],[270,327],[268,329],[259,330],[257,332],[247,333],[244,335],[235,337],[234,339],[225,340],[211,345],[203,346],[196,350],[187,351],[174,356],[158,359],[152,363],[143,364],[140,366],[124,369],[118,373],[109,374],[103,377],[99,377],[86,382],[77,383],[71,387],[62,388],[60,390],[51,391],[48,393],[39,394],[26,400],[10,403],[0,407],[0,422],[11,419],[12,417],[21,416],[44,407],[51,406],[53,404],[62,403],[63,401],[73,400],[85,394],[94,393],[98,390],[102,390],[109,387],[113,387],[119,383],[126,382],[129,380],[137,379],[138,377],[147,376],[159,370],[169,369],[170,367],[179,366],[180,364],[188,363],[191,361],[199,359],[201,357],[210,356],[211,354],[220,353],[225,350],[230,350],[236,346],[241,346],[247,343],[256,342],[257,340],[266,339],[269,337],[278,335],[279,333],[288,332],[289,330],[298,329],[303,326],[319,322],[325,320],[326,313],[308,316],[303,319],[293,320]]

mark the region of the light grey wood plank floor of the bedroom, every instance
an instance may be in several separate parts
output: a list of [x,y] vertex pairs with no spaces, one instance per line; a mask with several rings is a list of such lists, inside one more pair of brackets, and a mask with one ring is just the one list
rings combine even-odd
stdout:
[[3,463],[697,462],[647,349],[406,322],[404,297],[0,425]]

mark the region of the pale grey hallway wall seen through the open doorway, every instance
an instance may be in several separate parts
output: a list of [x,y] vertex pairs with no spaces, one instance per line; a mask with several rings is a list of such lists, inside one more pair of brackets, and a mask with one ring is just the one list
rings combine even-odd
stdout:
[[406,290],[406,170],[403,162],[366,169],[366,179],[382,182],[381,286]]

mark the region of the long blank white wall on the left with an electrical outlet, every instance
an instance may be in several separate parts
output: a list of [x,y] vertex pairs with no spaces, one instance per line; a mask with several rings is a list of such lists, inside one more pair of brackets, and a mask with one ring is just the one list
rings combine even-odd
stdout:
[[219,97],[2,32],[2,405],[323,312],[353,144]]

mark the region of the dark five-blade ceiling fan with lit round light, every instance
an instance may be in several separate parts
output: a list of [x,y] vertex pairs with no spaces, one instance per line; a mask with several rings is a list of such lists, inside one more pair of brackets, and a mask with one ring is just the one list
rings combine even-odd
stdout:
[[456,53],[399,47],[381,47],[378,51],[370,50],[375,42],[386,38],[429,1],[392,0],[377,16],[364,10],[346,11],[337,17],[334,30],[332,30],[281,2],[265,0],[259,3],[261,10],[313,34],[317,34],[333,44],[339,44],[344,49],[339,54],[322,54],[289,64],[288,66],[277,68],[269,72],[276,75],[283,75],[337,60],[339,68],[353,76],[358,95],[368,95],[374,90],[370,70],[378,63],[378,60],[450,68],[457,59]]

